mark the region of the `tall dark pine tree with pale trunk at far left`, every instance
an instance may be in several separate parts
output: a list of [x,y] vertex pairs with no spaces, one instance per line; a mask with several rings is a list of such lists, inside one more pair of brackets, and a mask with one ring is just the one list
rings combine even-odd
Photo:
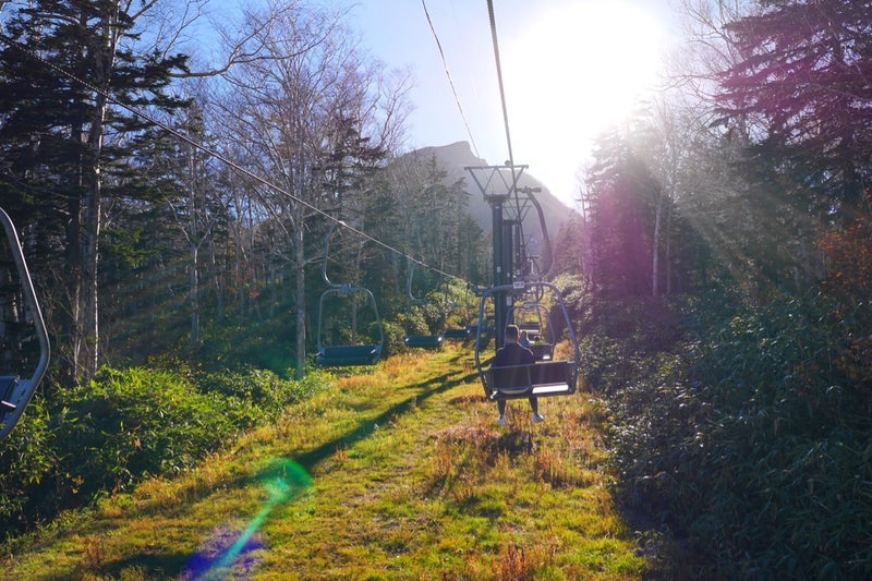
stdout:
[[[141,10],[142,8],[142,10]],[[119,104],[172,111],[167,93],[186,57],[142,47],[137,21],[152,4],[38,0],[8,22],[0,51],[3,196],[26,199],[56,241],[43,264],[56,274],[62,360],[71,382],[99,362],[99,242],[107,201],[137,193],[134,136],[147,123]],[[134,12],[138,10],[138,12]],[[63,230],[61,230],[63,228]],[[62,256],[62,264],[58,258]]]

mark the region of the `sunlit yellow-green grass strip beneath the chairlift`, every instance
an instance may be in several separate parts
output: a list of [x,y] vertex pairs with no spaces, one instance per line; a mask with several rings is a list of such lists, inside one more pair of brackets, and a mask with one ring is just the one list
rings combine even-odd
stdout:
[[641,579],[586,395],[495,425],[459,348],[392,358],[199,468],[4,550],[3,579]]

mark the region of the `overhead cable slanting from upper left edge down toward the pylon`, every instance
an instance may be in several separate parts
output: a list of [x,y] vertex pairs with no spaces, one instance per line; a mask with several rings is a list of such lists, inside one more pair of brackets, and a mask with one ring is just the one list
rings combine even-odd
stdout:
[[288,196],[290,199],[292,199],[292,201],[305,206],[306,208],[311,209],[313,213],[315,213],[315,214],[317,214],[317,215],[319,215],[319,216],[322,216],[322,217],[335,222],[337,226],[341,226],[342,228],[346,228],[350,232],[363,238],[364,240],[368,240],[370,242],[373,242],[374,244],[376,244],[378,246],[382,246],[383,249],[385,249],[385,250],[387,250],[389,252],[398,254],[399,256],[402,256],[402,257],[413,262],[414,264],[416,264],[416,265],[419,265],[419,266],[421,266],[423,268],[426,268],[426,269],[428,269],[428,270],[431,270],[433,273],[436,273],[436,274],[438,274],[440,276],[444,276],[444,277],[447,277],[449,279],[463,282],[465,285],[470,285],[469,281],[467,281],[463,278],[460,278],[460,277],[458,277],[456,275],[451,275],[449,273],[445,273],[444,270],[441,270],[439,268],[436,268],[435,266],[431,266],[431,265],[428,265],[428,264],[426,264],[426,263],[424,263],[422,261],[419,261],[414,256],[412,256],[412,255],[410,255],[410,254],[408,254],[405,252],[402,252],[401,250],[399,250],[399,249],[397,249],[395,246],[391,246],[390,244],[388,244],[386,242],[382,242],[377,238],[374,238],[374,237],[367,234],[363,230],[354,228],[353,226],[350,226],[349,223],[344,222],[343,220],[340,220],[339,218],[336,218],[335,216],[331,216],[330,214],[328,214],[328,213],[324,211],[323,209],[316,207],[315,205],[311,204],[310,202],[306,202],[305,199],[302,199],[302,198],[293,195],[292,193],[288,192],[287,190],[282,189],[281,186],[276,185],[275,183],[272,183],[272,182],[270,182],[270,181],[257,175],[253,171],[251,171],[251,170],[249,170],[246,168],[243,168],[242,166],[239,166],[238,164],[235,164],[234,161],[232,161],[228,157],[225,157],[223,155],[221,155],[220,153],[216,152],[215,149],[210,149],[209,147],[207,147],[207,146],[203,145],[202,143],[197,142],[196,140],[193,140],[193,138],[191,138],[191,137],[189,137],[186,135],[183,135],[182,133],[180,133],[180,132],[175,131],[174,129],[172,129],[171,126],[169,126],[167,123],[165,123],[165,122],[162,122],[162,121],[149,116],[146,112],[143,112],[143,111],[141,111],[141,110],[134,108],[134,107],[131,107],[130,105],[121,102],[117,98],[114,98],[111,95],[109,95],[107,92],[96,87],[95,85],[88,83],[87,81],[85,81],[83,78],[80,78],[78,76],[74,75],[73,73],[70,73],[69,71],[62,69],[61,66],[58,66],[57,64],[55,64],[52,62],[49,62],[48,60],[44,59],[43,57],[40,57],[38,55],[34,55],[33,52],[31,52],[26,48],[22,47],[17,41],[9,38],[4,34],[0,34],[0,41],[5,43],[8,46],[14,48],[19,52],[24,53],[26,57],[33,58],[33,59],[41,62],[43,64],[45,64],[46,66],[48,66],[52,71],[55,71],[55,72],[57,72],[57,73],[59,73],[59,74],[61,74],[61,75],[63,75],[63,76],[65,76],[65,77],[68,77],[70,80],[74,81],[75,83],[81,84],[83,87],[87,88],[88,90],[93,90],[94,93],[105,97],[109,102],[112,102],[112,104],[114,104],[114,105],[117,105],[117,106],[119,106],[119,107],[121,107],[123,109],[126,109],[129,112],[133,113],[134,116],[136,116],[136,117],[138,117],[141,119],[144,119],[145,121],[152,123],[153,125],[156,125],[156,126],[162,129],[164,131],[166,131],[170,135],[173,135],[178,140],[191,145],[192,147],[194,147],[196,149],[199,149],[201,152],[214,157],[215,159],[218,159],[219,161],[226,164],[228,167],[230,167],[234,171],[238,171],[238,172],[240,172],[240,173],[242,173],[244,175],[247,175],[249,178],[255,180],[256,182],[259,182],[262,185],[265,185],[265,186],[278,192],[279,194]]

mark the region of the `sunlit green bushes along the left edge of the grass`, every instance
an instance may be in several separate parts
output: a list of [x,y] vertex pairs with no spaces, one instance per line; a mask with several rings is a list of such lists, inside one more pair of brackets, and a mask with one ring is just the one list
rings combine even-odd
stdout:
[[0,443],[3,530],[20,532],[148,474],[191,468],[332,377],[323,371],[299,382],[264,370],[196,374],[178,362],[173,368],[104,367],[87,385],[59,392],[61,408],[52,413],[36,398]]

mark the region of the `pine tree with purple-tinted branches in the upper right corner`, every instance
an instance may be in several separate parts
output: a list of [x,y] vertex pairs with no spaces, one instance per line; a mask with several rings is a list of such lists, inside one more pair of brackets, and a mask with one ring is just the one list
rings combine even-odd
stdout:
[[760,14],[728,25],[744,58],[722,74],[722,111],[756,120],[754,160],[765,167],[778,160],[775,173],[787,184],[816,190],[820,215],[843,205],[850,215],[865,204],[863,189],[872,177],[870,3],[763,5]]

